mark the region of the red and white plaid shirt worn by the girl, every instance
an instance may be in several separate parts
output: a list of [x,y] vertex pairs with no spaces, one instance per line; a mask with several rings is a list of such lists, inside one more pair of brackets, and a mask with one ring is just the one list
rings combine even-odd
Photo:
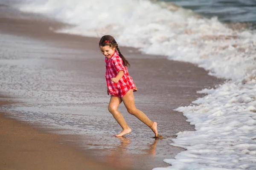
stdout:
[[[117,51],[114,52],[113,56],[110,59],[105,57],[105,62],[105,77],[109,94],[122,97],[131,89],[137,91],[134,81],[131,76],[129,76],[127,68],[123,66],[122,58],[119,56]],[[111,78],[116,77],[117,73],[121,70],[124,71],[123,77],[117,83],[112,82]]]

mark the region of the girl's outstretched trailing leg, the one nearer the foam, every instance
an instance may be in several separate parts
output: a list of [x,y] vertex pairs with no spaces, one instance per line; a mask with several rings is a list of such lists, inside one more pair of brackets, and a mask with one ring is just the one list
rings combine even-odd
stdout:
[[135,107],[135,102],[134,102],[134,94],[133,90],[129,90],[125,96],[122,97],[122,101],[124,102],[124,105],[127,109],[127,111],[136,116],[138,119],[140,119],[141,122],[145,123],[148,127],[151,128],[151,130],[154,132],[155,137],[157,137],[158,132],[157,132],[157,122],[152,122],[148,117],[143,113],[142,111],[138,110]]

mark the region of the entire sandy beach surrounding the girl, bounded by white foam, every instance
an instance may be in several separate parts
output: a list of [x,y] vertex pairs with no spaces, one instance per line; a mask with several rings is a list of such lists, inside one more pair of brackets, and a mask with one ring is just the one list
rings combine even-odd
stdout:
[[[34,18],[28,14],[23,15],[26,16],[2,15],[1,33],[14,37],[2,39],[1,42],[7,51],[18,49],[18,55],[12,56],[13,60],[27,62],[39,56],[37,61],[40,61],[40,64],[43,63],[44,67],[41,68],[41,65],[32,63],[36,66],[34,70],[36,75],[40,73],[39,79],[36,78],[38,76],[32,77],[28,74],[17,76],[28,83],[20,82],[19,87],[15,89],[18,93],[14,99],[9,99],[12,93],[4,91],[8,85],[3,83],[2,94],[7,97],[1,97],[0,110],[8,110],[9,107],[30,107],[34,108],[31,112],[37,111],[42,108],[42,104],[40,103],[39,106],[35,96],[42,95],[39,94],[40,91],[44,91],[45,95],[49,95],[47,91],[54,91],[58,95],[49,96],[49,99],[44,101],[43,107],[47,107],[52,112],[54,109],[64,110],[66,106],[76,108],[77,111],[73,114],[79,116],[82,113],[76,122],[86,130],[83,135],[76,131],[71,131],[71,134],[80,135],[59,135],[56,134],[59,132],[56,128],[44,128],[47,125],[38,123],[40,117],[36,114],[9,111],[3,116],[2,113],[0,158],[3,160],[0,161],[3,164],[0,164],[0,169],[79,170],[88,167],[87,169],[90,170],[150,170],[154,167],[170,166],[164,163],[163,159],[174,158],[183,149],[172,147],[169,143],[175,138],[177,132],[194,130],[194,126],[186,122],[186,117],[173,109],[181,105],[190,105],[193,100],[203,96],[196,91],[218,85],[221,80],[207,75],[202,68],[189,63],[170,61],[163,56],[145,55],[135,48],[121,47],[120,50],[131,63],[129,73],[139,90],[134,93],[137,108],[158,123],[158,131],[165,139],[153,139],[151,130],[129,115],[123,105],[120,106],[120,111],[133,131],[123,138],[115,138],[114,134],[121,129],[107,110],[109,96],[106,95],[105,90],[104,57],[97,46],[99,39],[56,34],[52,30],[61,28],[65,24]],[[27,15],[30,17],[29,20],[26,19]],[[21,50],[23,44],[29,46],[26,51]],[[41,44],[51,45],[54,48],[46,49],[40,46]],[[1,59],[12,62],[5,56]],[[30,66],[29,69],[31,69]],[[48,70],[51,72],[48,73]],[[46,74],[41,74],[42,72]],[[9,74],[3,75],[8,77]],[[14,85],[15,80],[13,81],[10,84]],[[37,84],[27,88],[30,81]],[[42,90],[40,85],[45,83],[56,89]],[[68,98],[70,94],[72,97]],[[44,94],[41,97],[44,97]],[[31,98],[35,99],[31,100]],[[19,99],[23,103],[6,103],[7,99],[9,101]],[[59,103],[52,104],[52,101],[59,101]],[[67,112],[67,115],[72,114]],[[6,118],[6,116],[15,119]],[[31,121],[33,116],[35,120]],[[64,116],[64,119],[66,118],[74,119],[72,116]],[[30,122],[18,122],[17,119],[28,119]],[[68,123],[67,121],[63,124]],[[88,126],[91,128],[87,128]]]

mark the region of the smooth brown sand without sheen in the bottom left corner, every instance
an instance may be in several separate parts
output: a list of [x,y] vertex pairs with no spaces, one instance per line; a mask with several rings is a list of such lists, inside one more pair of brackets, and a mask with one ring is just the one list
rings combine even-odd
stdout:
[[[45,133],[0,113],[1,170],[114,170],[74,147],[76,136]],[[70,147],[73,145],[73,147]],[[118,168],[119,169],[119,168]]]

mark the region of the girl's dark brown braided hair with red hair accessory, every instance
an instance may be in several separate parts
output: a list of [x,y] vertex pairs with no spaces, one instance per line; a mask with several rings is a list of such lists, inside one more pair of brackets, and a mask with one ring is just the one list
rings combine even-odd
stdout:
[[109,45],[111,48],[116,48],[116,50],[119,53],[119,56],[122,58],[123,60],[123,65],[125,67],[130,67],[130,63],[127,61],[127,59],[125,59],[125,57],[121,54],[120,49],[118,47],[118,44],[116,43],[116,40],[114,39],[114,37],[112,37],[111,35],[104,35],[100,40],[99,40],[99,46],[104,47],[105,45]]

